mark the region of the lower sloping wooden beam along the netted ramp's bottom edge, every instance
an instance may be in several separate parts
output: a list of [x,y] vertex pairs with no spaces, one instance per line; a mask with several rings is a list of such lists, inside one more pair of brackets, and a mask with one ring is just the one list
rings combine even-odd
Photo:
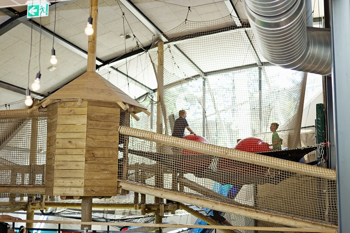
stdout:
[[181,203],[189,203],[204,208],[210,208],[213,210],[232,213],[249,218],[254,218],[257,220],[273,222],[291,227],[307,227],[320,229],[334,229],[334,227],[336,227],[334,225],[326,224],[323,222],[311,222],[307,219],[297,218],[296,216],[294,216],[293,218],[290,218],[288,216],[280,216],[272,212],[267,212],[258,209],[255,210],[234,204],[227,204],[218,200],[194,196],[190,194],[184,194],[176,191],[170,191],[168,189],[161,189],[153,186],[147,186],[127,181],[118,181],[118,183],[123,189],[126,190],[138,191],[148,195],[167,198]]

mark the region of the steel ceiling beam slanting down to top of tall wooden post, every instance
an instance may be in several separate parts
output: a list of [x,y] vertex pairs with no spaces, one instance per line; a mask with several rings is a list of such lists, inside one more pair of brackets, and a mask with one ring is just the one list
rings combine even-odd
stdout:
[[163,32],[151,21],[149,18],[146,17],[142,13],[141,10],[139,10],[132,2],[131,0],[119,0],[135,17],[142,22],[142,24],[148,28],[154,35],[159,35],[160,39],[162,41],[167,41],[167,39],[162,35]]

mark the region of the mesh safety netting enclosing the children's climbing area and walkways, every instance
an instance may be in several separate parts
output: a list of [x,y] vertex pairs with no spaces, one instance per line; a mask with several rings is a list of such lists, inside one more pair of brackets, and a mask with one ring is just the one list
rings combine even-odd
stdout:
[[[322,163],[314,126],[301,128],[308,74],[264,60],[249,25],[238,21],[186,20],[155,37],[148,54],[158,92],[140,101],[151,114],[136,121],[120,111],[115,169],[130,192],[93,203],[178,201],[203,207],[218,224],[337,225],[335,170]],[[0,210],[8,212],[43,194],[10,188],[44,185],[51,116],[3,112],[0,185],[9,189],[0,194]],[[47,203],[80,201],[55,196]],[[64,211],[78,215],[73,207]],[[154,217],[141,217],[144,208],[95,213],[115,221]]]

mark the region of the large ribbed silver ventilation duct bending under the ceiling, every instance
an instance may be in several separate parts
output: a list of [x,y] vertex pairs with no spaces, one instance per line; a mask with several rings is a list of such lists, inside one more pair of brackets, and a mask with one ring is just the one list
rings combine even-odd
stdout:
[[306,28],[305,0],[245,0],[261,54],[283,68],[330,74],[330,30]]

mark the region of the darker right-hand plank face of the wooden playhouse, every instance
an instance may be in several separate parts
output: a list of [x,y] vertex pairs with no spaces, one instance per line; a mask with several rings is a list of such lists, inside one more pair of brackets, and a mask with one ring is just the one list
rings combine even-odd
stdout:
[[120,108],[88,100],[84,196],[116,195]]

